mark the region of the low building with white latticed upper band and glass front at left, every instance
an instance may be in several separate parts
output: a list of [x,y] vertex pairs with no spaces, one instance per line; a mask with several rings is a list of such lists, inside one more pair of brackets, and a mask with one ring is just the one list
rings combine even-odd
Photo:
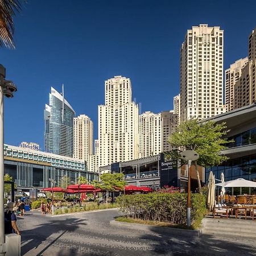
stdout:
[[86,170],[84,160],[69,158],[33,150],[31,148],[4,146],[5,174],[13,177],[17,188],[51,187],[49,178],[61,183],[64,176],[70,177],[71,183],[76,184],[79,176],[88,181],[98,179],[98,172]]

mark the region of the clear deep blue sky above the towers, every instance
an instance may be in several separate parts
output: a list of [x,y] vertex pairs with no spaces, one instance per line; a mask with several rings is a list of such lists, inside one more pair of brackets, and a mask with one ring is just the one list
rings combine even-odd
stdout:
[[224,29],[224,67],[247,56],[256,26],[256,1],[32,1],[15,18],[15,50],[0,49],[0,63],[18,92],[5,99],[5,143],[43,148],[44,105],[51,86],[76,115],[94,122],[104,104],[104,81],[131,79],[142,112],[173,108],[179,93],[179,51],[187,29],[200,23]]

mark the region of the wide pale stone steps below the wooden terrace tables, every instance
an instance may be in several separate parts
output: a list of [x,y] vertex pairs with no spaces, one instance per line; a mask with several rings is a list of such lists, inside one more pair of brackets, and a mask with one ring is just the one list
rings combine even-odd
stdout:
[[256,220],[236,218],[204,218],[201,224],[202,234],[216,236],[255,237]]

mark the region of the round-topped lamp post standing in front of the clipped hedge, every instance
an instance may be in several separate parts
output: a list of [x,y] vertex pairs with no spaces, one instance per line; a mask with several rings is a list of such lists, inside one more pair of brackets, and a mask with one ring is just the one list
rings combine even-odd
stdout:
[[187,197],[187,226],[191,225],[191,185],[190,185],[190,176],[191,171],[190,167],[192,161],[195,161],[199,158],[199,154],[193,150],[185,150],[180,153],[181,156],[187,161],[188,163],[188,197]]

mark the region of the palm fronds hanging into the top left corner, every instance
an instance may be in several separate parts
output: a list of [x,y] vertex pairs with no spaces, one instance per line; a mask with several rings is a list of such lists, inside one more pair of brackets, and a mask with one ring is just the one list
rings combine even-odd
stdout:
[[13,42],[15,12],[20,11],[19,0],[0,0],[0,46],[15,48]]

